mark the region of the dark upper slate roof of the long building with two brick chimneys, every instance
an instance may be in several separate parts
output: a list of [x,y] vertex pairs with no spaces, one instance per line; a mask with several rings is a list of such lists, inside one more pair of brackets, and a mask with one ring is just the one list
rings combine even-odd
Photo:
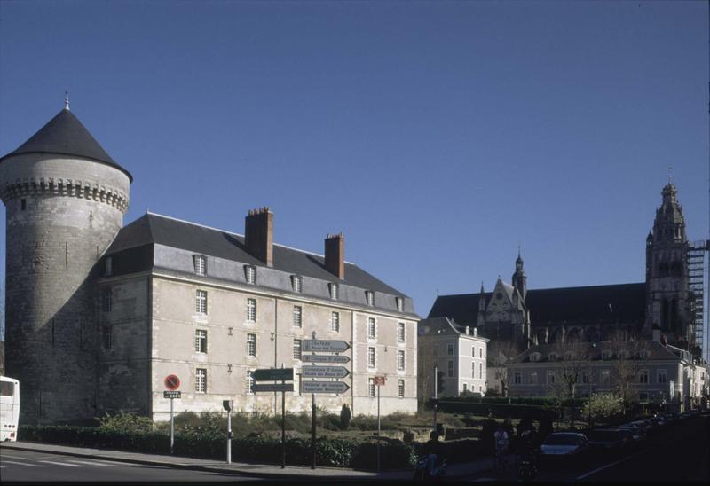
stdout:
[[[193,251],[201,255],[217,256],[226,260],[264,267],[265,264],[250,255],[244,245],[244,236],[217,230],[196,223],[181,221],[168,216],[147,213],[133,223],[124,226],[116,235],[106,255],[123,250],[158,244]],[[325,269],[324,257],[303,250],[273,245],[273,269],[305,277],[338,282],[335,275]],[[345,263],[343,283],[383,294],[401,295],[397,289],[373,277],[353,263]]]

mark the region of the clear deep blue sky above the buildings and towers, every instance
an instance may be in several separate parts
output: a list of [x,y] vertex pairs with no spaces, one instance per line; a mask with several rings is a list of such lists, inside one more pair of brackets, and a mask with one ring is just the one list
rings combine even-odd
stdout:
[[[643,281],[668,167],[708,234],[706,2],[0,3],[0,153],[71,107],[150,209],[414,298]],[[2,209],[4,217],[4,208]],[[4,225],[2,227],[4,259]],[[4,270],[4,262],[0,265]]]

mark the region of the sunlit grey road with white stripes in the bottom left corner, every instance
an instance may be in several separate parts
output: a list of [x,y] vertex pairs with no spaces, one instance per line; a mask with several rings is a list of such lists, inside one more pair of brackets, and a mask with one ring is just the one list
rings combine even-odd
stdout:
[[146,466],[35,451],[0,452],[3,482],[244,482],[262,481],[234,474]]

